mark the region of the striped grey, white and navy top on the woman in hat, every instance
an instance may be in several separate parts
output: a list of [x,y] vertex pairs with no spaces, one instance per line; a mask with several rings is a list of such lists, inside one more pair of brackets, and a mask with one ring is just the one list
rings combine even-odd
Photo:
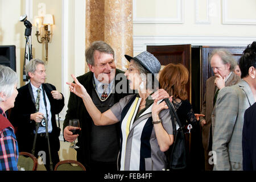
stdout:
[[[141,98],[130,95],[122,98],[111,110],[121,122],[121,149],[118,159],[121,171],[151,171],[166,168],[166,155],[160,151],[152,124],[152,104],[139,115]],[[172,134],[171,115],[168,109],[159,114],[162,125]]]

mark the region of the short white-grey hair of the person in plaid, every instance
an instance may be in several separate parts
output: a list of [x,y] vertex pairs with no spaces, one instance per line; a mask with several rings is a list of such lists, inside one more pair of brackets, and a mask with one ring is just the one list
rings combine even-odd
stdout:
[[[18,76],[13,69],[0,65],[0,92],[3,92],[6,98],[9,98],[14,92],[14,85],[18,83]],[[0,102],[3,99],[0,97]]]

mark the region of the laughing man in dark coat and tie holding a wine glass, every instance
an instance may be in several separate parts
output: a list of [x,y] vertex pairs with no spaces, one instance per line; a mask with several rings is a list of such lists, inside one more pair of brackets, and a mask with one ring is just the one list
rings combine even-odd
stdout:
[[[128,90],[124,72],[116,69],[114,51],[109,44],[96,41],[85,51],[90,72],[77,77],[88,90],[94,104],[103,113],[121,98],[133,91]],[[72,135],[68,130],[69,119],[79,119],[81,131]],[[63,125],[64,139],[73,142],[78,137],[77,160],[86,170],[117,171],[119,152],[119,124],[95,126],[80,97],[70,93],[68,110]]]

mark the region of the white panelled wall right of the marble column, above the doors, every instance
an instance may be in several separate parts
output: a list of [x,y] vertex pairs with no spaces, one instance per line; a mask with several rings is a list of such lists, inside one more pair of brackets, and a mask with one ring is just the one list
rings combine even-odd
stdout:
[[147,45],[246,46],[256,40],[255,0],[134,0],[133,6],[134,55]]

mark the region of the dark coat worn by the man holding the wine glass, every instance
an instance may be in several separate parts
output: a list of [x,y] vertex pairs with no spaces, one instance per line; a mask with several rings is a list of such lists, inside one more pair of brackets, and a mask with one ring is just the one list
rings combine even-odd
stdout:
[[[121,70],[116,69],[115,75],[117,75],[118,73],[123,74]],[[94,89],[93,73],[92,72],[85,73],[84,75],[77,77],[77,80],[79,80],[80,84],[82,84],[85,87],[88,94],[92,96],[92,92]],[[122,81],[122,79],[115,80],[115,85],[117,85],[118,82],[120,81]],[[126,87],[128,88],[128,81],[126,80],[126,78],[125,78],[125,84],[126,84]],[[130,93],[131,93],[131,90],[130,90]],[[128,94],[129,94],[129,91],[126,93],[117,93],[115,91],[114,103],[112,104],[112,106],[115,103],[117,103],[121,98],[127,96]],[[71,92],[69,96],[69,101],[68,101],[68,110],[67,110],[67,114],[65,115],[65,120],[63,124],[63,131],[65,127],[69,125],[69,119],[72,119],[72,118],[79,119],[80,127],[81,127],[81,132],[78,137],[78,143],[77,143],[77,145],[80,146],[80,148],[76,149],[77,160],[82,164],[84,164],[85,167],[89,167],[90,166],[90,141],[91,141],[90,132],[92,129],[93,121],[88,111],[86,110],[82,99]],[[117,137],[118,140],[119,140],[119,131],[120,131],[119,125],[120,125],[119,123],[115,124],[117,133],[113,134],[113,137]]]

